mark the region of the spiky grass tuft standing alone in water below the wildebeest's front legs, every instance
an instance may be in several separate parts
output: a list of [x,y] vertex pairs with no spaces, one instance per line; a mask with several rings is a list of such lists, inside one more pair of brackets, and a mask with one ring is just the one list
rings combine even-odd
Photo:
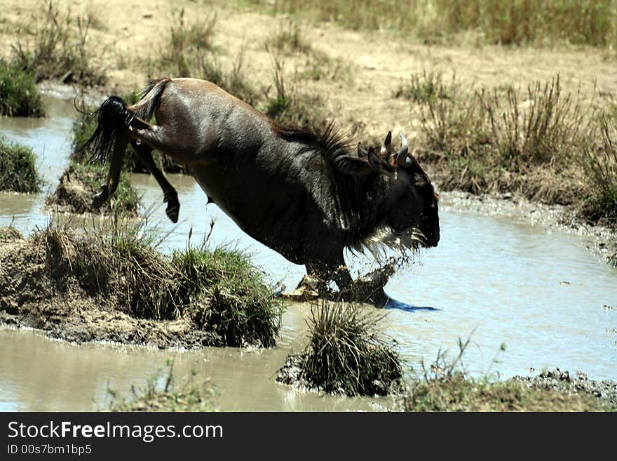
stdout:
[[278,380],[348,396],[386,395],[398,389],[402,378],[398,353],[377,331],[383,317],[344,303],[313,307],[308,345],[287,361],[298,371],[290,379],[283,368]]

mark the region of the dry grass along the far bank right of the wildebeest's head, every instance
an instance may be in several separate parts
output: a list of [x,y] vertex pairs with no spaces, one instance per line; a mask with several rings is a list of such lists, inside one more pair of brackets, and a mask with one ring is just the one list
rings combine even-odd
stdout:
[[559,76],[526,91],[482,88],[441,98],[431,75],[409,92],[420,105],[423,159],[442,167],[443,189],[518,192],[573,206],[590,224],[616,225],[613,113],[564,93]]

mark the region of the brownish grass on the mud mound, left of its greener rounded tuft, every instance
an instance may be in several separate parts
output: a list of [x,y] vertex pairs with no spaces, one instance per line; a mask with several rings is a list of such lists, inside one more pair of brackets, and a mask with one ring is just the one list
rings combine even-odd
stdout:
[[45,248],[46,266],[60,290],[76,280],[91,296],[138,319],[177,319],[177,272],[156,251],[153,234],[143,226],[114,220],[111,232],[77,234],[48,226],[34,241]]

